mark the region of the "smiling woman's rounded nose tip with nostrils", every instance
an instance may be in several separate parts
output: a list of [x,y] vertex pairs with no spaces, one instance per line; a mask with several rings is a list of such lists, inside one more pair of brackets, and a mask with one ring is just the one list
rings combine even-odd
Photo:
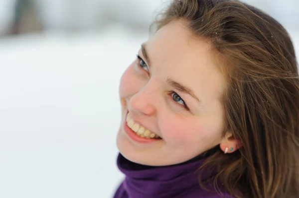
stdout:
[[130,99],[131,110],[135,113],[141,113],[145,115],[153,115],[156,112],[155,98],[156,92],[149,86],[143,87],[139,92],[134,94]]

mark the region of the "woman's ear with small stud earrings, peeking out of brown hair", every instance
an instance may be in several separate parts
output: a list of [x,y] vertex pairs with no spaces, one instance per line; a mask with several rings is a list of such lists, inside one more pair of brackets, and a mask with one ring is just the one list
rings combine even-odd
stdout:
[[224,152],[224,154],[233,153],[239,148],[241,148],[242,146],[243,146],[242,141],[236,139],[232,132],[226,132],[225,136],[220,142],[220,148]]

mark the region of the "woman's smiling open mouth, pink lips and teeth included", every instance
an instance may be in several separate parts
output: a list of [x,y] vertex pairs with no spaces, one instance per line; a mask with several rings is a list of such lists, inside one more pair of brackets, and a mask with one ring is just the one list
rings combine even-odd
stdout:
[[141,124],[135,122],[131,118],[129,112],[126,115],[124,130],[133,140],[138,142],[152,142],[162,139],[161,137],[159,137],[159,135],[151,132]]

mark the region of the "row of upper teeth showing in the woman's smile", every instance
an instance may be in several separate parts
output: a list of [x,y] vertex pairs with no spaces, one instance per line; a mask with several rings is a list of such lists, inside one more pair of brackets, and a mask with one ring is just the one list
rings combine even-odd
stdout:
[[160,138],[157,134],[150,132],[148,129],[145,129],[138,123],[134,123],[134,120],[131,119],[130,115],[127,115],[127,125],[129,128],[131,128],[134,132],[136,132],[137,135],[145,138],[151,138],[151,139],[158,139]]

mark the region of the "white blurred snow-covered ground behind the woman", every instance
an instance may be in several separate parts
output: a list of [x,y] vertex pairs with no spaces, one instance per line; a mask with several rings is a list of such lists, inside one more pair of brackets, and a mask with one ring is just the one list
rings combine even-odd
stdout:
[[112,197],[119,81],[146,39],[113,26],[0,40],[0,198]]

